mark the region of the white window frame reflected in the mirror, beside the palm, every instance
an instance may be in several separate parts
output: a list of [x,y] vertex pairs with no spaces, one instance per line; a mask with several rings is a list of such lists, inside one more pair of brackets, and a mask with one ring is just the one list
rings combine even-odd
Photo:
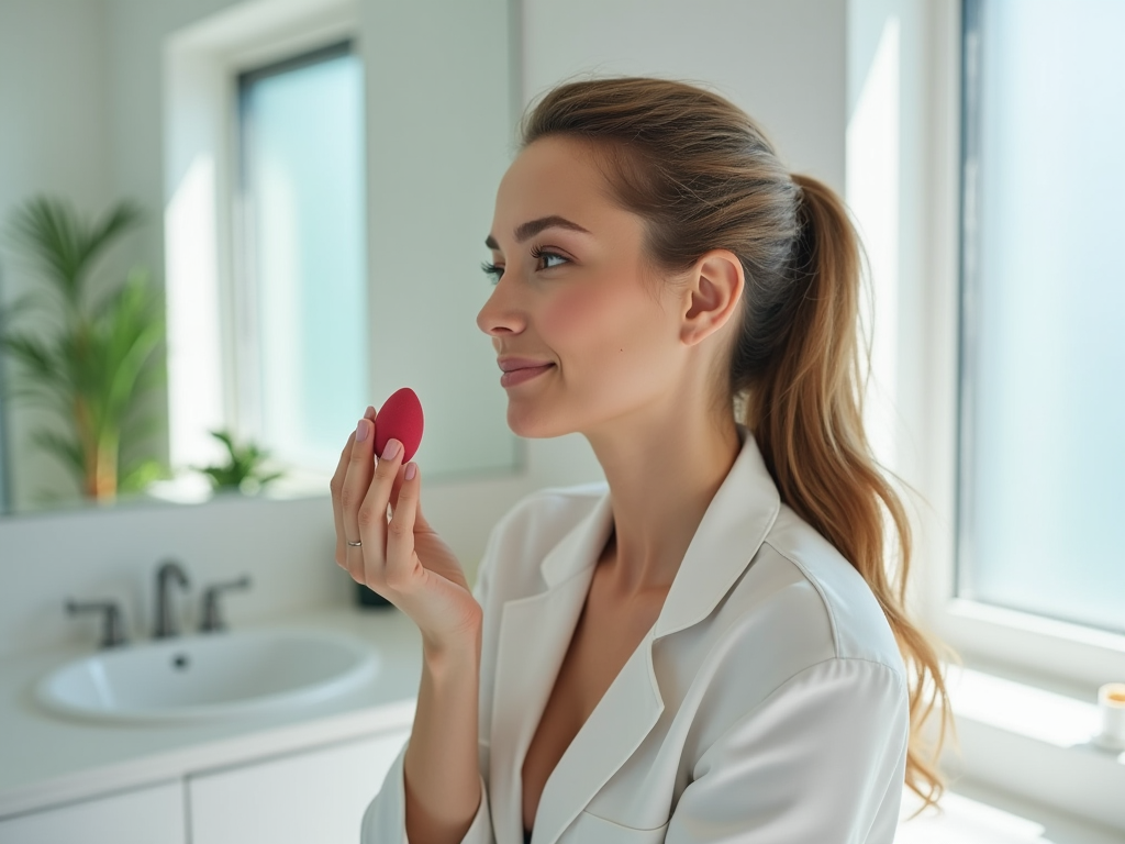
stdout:
[[[169,451],[176,470],[223,459],[206,431],[244,425],[237,383],[236,281],[240,74],[350,42],[362,54],[353,0],[300,0],[227,9],[178,30],[164,45],[165,290],[169,316]],[[183,473],[168,497],[207,491]],[[320,491],[321,473],[295,469],[274,485]],[[274,491],[274,494],[278,494]]]

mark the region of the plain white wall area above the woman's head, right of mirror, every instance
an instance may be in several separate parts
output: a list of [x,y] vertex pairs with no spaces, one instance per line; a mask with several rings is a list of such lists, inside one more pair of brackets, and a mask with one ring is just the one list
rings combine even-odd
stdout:
[[524,0],[524,101],[574,73],[712,86],[844,188],[844,0]]

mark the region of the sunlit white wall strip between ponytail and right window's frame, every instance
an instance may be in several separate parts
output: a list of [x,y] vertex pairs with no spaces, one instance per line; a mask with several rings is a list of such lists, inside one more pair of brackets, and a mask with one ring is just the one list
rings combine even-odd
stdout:
[[945,281],[928,254],[935,224],[928,23],[921,0],[848,3],[846,198],[867,250],[875,304],[868,436],[880,460],[919,484],[934,413],[926,407],[933,322],[926,296]]

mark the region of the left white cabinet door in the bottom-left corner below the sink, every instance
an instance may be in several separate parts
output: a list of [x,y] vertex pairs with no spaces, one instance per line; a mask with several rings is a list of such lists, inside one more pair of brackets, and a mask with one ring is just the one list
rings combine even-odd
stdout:
[[180,780],[0,820],[0,844],[186,844]]

